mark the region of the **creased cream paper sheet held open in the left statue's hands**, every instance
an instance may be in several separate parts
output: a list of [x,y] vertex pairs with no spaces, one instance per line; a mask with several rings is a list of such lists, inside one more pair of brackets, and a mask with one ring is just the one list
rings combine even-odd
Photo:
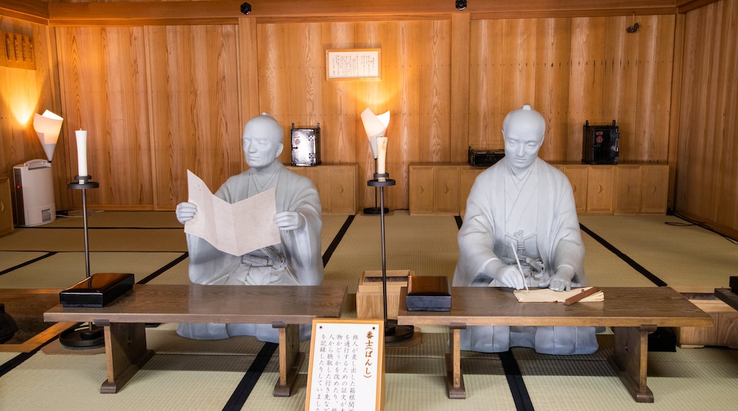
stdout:
[[275,189],[266,190],[238,203],[215,197],[195,173],[187,170],[189,202],[197,205],[184,232],[198,236],[213,247],[234,256],[281,242],[274,222],[277,213]]

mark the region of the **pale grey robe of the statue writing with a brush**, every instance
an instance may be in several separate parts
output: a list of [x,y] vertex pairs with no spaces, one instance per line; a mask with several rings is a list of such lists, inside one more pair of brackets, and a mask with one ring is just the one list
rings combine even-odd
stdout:
[[[492,259],[517,264],[513,245],[517,253],[542,261],[545,270],[539,282],[554,275],[556,267],[569,265],[576,273],[572,286],[587,286],[571,185],[562,172],[539,158],[523,181],[516,180],[505,159],[477,177],[458,245],[455,287],[504,287],[485,275],[484,267]],[[472,326],[461,331],[463,350],[501,352],[510,346],[543,354],[591,354],[598,348],[594,327]]]

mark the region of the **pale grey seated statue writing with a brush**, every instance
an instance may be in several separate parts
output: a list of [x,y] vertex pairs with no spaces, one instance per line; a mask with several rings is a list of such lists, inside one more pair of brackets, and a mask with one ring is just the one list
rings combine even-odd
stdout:
[[[458,233],[455,287],[528,287],[554,291],[587,286],[584,243],[568,178],[538,158],[545,120],[529,105],[503,122],[505,158],[482,172],[466,201]],[[514,248],[513,248],[514,247]],[[472,326],[461,349],[529,347],[542,354],[592,354],[594,327]]]

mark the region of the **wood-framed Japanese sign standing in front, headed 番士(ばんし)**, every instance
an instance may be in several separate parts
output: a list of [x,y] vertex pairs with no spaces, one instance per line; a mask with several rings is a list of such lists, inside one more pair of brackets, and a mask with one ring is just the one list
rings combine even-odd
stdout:
[[313,320],[306,411],[384,410],[384,321]]

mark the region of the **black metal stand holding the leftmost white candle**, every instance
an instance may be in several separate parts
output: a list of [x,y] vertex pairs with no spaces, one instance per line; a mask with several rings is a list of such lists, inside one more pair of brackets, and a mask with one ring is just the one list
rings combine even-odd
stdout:
[[[87,190],[97,189],[100,187],[100,183],[91,181],[91,175],[75,175],[75,180],[77,180],[78,183],[68,183],[66,188],[82,190],[82,214],[85,237],[85,274],[86,278],[91,279],[89,234],[87,228]],[[88,326],[75,327],[74,329],[64,331],[59,335],[59,342],[61,342],[61,345],[69,348],[97,348],[105,345],[105,334],[103,333],[103,327],[94,326],[92,322],[90,322]]]

